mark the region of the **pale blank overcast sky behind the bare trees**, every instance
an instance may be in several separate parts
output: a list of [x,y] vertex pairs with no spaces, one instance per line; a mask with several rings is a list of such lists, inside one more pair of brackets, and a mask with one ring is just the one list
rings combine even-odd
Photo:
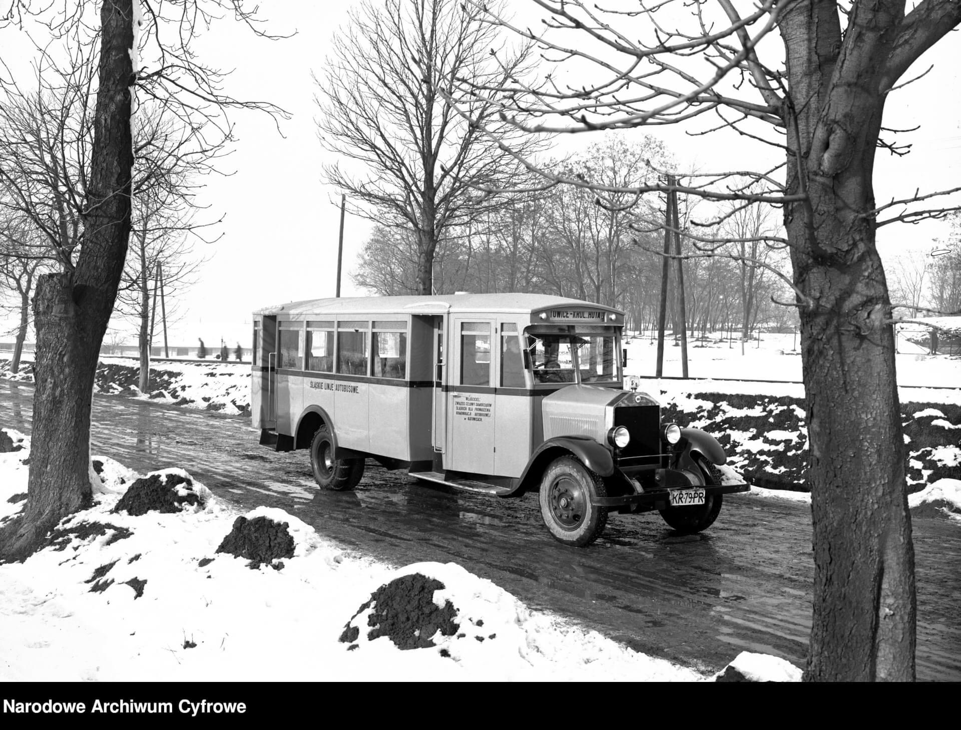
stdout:
[[[317,141],[311,70],[321,74],[330,39],[347,22],[347,9],[356,3],[316,3],[309,0],[268,0],[260,14],[276,33],[297,31],[293,38],[270,41],[255,38],[230,20],[215,24],[198,47],[205,63],[234,68],[226,89],[236,98],[271,101],[292,114],[281,121],[283,137],[272,119],[262,113],[234,113],[238,142],[224,161],[229,177],[207,179],[201,201],[209,215],[224,214],[221,239],[198,245],[209,258],[199,281],[183,296],[185,316],[172,326],[171,344],[193,345],[198,337],[210,345],[223,338],[249,345],[251,312],[260,307],[297,299],[333,296],[336,276],[339,210],[334,190],[321,181],[321,165],[333,161]],[[530,4],[512,0],[511,11]],[[536,11],[536,9],[534,9]],[[539,15],[538,15],[539,16]],[[6,57],[5,57],[6,58]],[[946,38],[924,56],[909,76],[934,69],[888,101],[885,126],[922,129],[905,140],[914,142],[907,158],[877,157],[875,194],[878,204],[896,196],[959,185],[961,180],[961,88],[957,47]],[[685,164],[726,169],[753,166],[748,154],[757,145],[737,138],[690,138],[673,128],[653,130]],[[630,133],[628,133],[629,135]],[[638,132],[637,134],[642,134]],[[629,137],[628,137],[629,138]],[[600,141],[597,133],[566,136],[567,149]],[[957,202],[955,202],[957,204]],[[351,281],[357,254],[370,224],[348,215],[344,231],[343,295],[361,295]],[[882,253],[909,246],[927,251],[932,239],[945,236],[947,226],[924,223],[880,229]],[[130,340],[133,342],[134,340]],[[161,341],[155,339],[155,342]]]

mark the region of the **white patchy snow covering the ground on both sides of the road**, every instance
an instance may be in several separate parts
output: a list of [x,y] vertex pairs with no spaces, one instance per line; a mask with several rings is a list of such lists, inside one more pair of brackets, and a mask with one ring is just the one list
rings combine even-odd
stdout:
[[[791,352],[791,340],[790,335],[764,336],[760,348],[747,343],[743,354],[739,343],[692,342],[691,375],[800,380],[801,359]],[[667,375],[680,374],[679,349],[669,345],[665,350]],[[899,349],[900,385],[961,385],[957,358],[926,355],[905,340]],[[628,341],[628,374],[653,374],[654,355],[651,340]],[[101,390],[227,414],[249,409],[249,365],[157,364],[158,372],[167,374],[154,381],[158,385],[152,384],[151,392],[139,393],[121,363],[134,365],[104,360]],[[643,378],[639,388],[690,411],[699,408],[692,392],[803,395],[800,385],[788,383]],[[901,400],[958,403],[961,390],[902,389]],[[961,427],[936,409],[914,417],[931,418],[949,431]],[[27,448],[0,454],[0,519],[23,506],[27,490],[22,461],[29,456],[29,440],[8,433]],[[957,450],[945,446],[952,448]],[[931,456],[948,464],[961,459],[961,451]],[[106,457],[96,459],[103,464],[104,484],[94,507],[62,523],[65,533],[58,544],[23,564],[0,566],[0,680],[703,681],[717,676],[639,654],[561,617],[531,611],[460,566],[390,566],[353,554],[279,510],[261,508],[243,516],[286,523],[292,557],[251,568],[246,559],[217,552],[241,516],[229,503],[193,482],[188,491],[200,502],[182,511],[111,513],[138,475]],[[164,473],[186,476],[180,470]],[[752,493],[810,499],[798,491],[755,487]],[[912,510],[936,510],[961,522],[961,481],[935,481],[912,494],[910,504]],[[89,527],[97,523],[105,525],[100,534]],[[396,637],[371,639],[367,618],[387,607],[365,604],[383,586],[401,585],[398,579],[414,575],[422,576],[422,586],[431,580],[443,584],[429,603],[448,628],[456,624],[456,631],[445,634],[443,627],[431,627],[430,637],[416,639],[432,645],[409,650],[401,649]],[[781,659],[748,652],[732,666],[752,679],[801,676],[798,667]]]

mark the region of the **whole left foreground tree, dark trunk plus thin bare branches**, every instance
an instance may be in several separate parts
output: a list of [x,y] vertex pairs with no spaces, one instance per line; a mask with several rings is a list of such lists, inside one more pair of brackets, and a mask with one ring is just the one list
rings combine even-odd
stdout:
[[[44,273],[37,280],[36,389],[27,504],[21,516],[0,528],[0,559],[23,559],[64,516],[92,500],[92,482],[97,479],[89,461],[93,381],[124,269],[135,192],[133,88],[144,89],[154,103],[187,125],[187,136],[181,138],[184,147],[173,155],[221,149],[231,139],[230,124],[223,117],[227,108],[284,115],[273,105],[238,102],[224,94],[220,90],[223,74],[199,63],[190,48],[200,28],[216,14],[213,11],[230,10],[256,34],[273,38],[255,28],[256,10],[245,10],[243,0],[186,0],[166,6],[153,0],[101,0],[99,27],[88,13],[93,3],[80,3],[73,12],[53,19],[43,14],[49,5],[31,8],[29,0],[16,0],[14,5],[17,13],[0,19],[0,30],[14,32],[13,22],[19,26],[39,15],[40,28],[52,31],[55,38],[69,39],[69,60],[78,62],[61,72],[43,49],[44,69],[62,78],[86,79],[95,86],[96,102],[93,113],[87,110],[79,119],[69,113],[72,102],[65,102],[59,110],[63,113],[54,117],[61,128],[92,123],[92,144],[82,158],[88,165],[75,171],[82,185],[64,187],[58,158],[44,156],[46,174],[28,176],[29,185],[13,184],[6,190],[14,195],[17,210],[30,214],[37,231],[50,239],[62,272]],[[141,6],[147,9],[142,16]],[[169,32],[171,24],[177,32]],[[164,34],[158,33],[161,25]],[[141,32],[140,42],[135,30]],[[97,53],[88,52],[90,43],[99,48]],[[138,51],[144,50],[153,55],[141,57]],[[95,72],[85,63],[94,57]],[[42,79],[40,87],[44,87]],[[41,138],[14,139],[24,147],[35,141],[42,146]],[[6,164],[0,180],[12,180]],[[79,205],[71,200],[78,193]],[[46,202],[40,205],[40,200]],[[71,212],[79,214],[71,216]]]

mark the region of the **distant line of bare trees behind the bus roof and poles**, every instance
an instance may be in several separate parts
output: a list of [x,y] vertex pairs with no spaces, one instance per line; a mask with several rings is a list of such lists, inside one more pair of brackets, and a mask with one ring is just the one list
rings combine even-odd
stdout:
[[[657,176],[647,164],[669,164],[664,146],[651,137],[628,144],[610,138],[565,161],[575,174],[627,187]],[[681,225],[690,227],[690,201],[681,200]],[[623,309],[628,326],[656,326],[660,297],[664,197],[621,194],[599,205],[588,189],[556,187],[518,192],[463,225],[448,228],[433,259],[433,292],[525,291],[596,301]],[[770,233],[776,215],[755,204],[724,211],[713,232],[747,239]],[[701,233],[703,238],[705,234]],[[738,244],[738,255],[787,267],[786,254],[761,241]],[[682,250],[697,251],[685,241]],[[414,231],[398,221],[376,226],[364,244],[353,279],[382,295],[418,292],[418,247]],[[747,336],[760,323],[788,327],[795,313],[776,305],[788,299],[772,272],[759,264],[723,257],[683,262],[689,332],[731,331]],[[669,279],[668,327],[677,329],[677,286]]]

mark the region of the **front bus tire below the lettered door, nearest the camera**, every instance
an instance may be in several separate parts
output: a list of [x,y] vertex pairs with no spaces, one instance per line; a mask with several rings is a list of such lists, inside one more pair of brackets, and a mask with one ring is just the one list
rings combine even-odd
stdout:
[[[566,492],[558,494],[557,492]],[[565,455],[554,459],[541,477],[541,517],[554,536],[565,545],[585,547],[601,537],[607,524],[607,508],[591,504],[591,494],[606,496],[604,480],[579,462],[576,457]],[[564,519],[564,510],[557,504],[558,497],[573,497],[573,514]]]

